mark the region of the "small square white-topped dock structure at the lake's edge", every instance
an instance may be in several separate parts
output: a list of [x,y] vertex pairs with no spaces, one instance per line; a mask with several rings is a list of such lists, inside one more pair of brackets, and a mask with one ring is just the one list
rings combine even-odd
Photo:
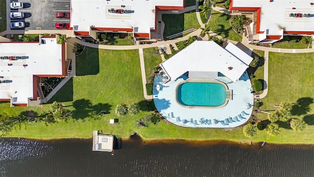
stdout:
[[98,130],[93,133],[93,150],[95,151],[113,151],[113,135],[101,134]]

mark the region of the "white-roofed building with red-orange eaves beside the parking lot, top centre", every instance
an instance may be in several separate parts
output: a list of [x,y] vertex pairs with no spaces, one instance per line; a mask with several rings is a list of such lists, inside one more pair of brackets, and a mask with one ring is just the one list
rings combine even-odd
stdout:
[[77,36],[95,39],[97,32],[133,32],[135,38],[151,38],[157,31],[158,11],[183,9],[184,0],[71,0],[70,25]]

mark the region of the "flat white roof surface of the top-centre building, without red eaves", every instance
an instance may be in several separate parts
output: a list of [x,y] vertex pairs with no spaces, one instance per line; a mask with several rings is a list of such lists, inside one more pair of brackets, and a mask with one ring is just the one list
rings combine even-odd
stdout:
[[[137,28],[135,32],[149,33],[155,29],[156,6],[183,7],[183,0],[71,0],[71,27],[75,31],[89,31],[90,27]],[[132,13],[110,13],[111,8]]]

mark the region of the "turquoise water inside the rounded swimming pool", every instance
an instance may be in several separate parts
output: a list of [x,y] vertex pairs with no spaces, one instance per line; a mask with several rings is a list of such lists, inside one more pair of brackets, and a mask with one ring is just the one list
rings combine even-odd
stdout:
[[220,106],[226,101],[226,89],[218,83],[183,83],[178,86],[177,101],[184,106]]

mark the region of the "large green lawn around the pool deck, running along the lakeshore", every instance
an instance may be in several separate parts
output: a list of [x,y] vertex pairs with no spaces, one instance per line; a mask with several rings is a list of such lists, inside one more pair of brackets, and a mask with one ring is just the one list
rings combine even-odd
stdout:
[[[145,50],[145,53],[147,51]],[[149,51],[148,51],[149,53]],[[26,128],[12,131],[9,136],[28,138],[90,138],[92,130],[102,129],[120,137],[138,133],[145,139],[224,139],[232,141],[255,141],[275,143],[314,143],[314,96],[312,69],[314,54],[269,55],[269,90],[263,102],[263,110],[273,110],[273,104],[282,101],[295,103],[291,111],[293,118],[304,118],[309,124],[303,132],[294,132],[287,123],[279,123],[280,135],[271,137],[266,130],[258,131],[254,138],[243,136],[242,129],[183,128],[163,121],[145,128],[135,128],[135,120],[154,110],[152,101],[146,107],[143,98],[139,55],[137,50],[110,51],[86,48],[77,58],[78,76],[70,80],[52,98],[61,100],[73,111],[73,118],[66,122],[46,126],[43,122],[28,122]],[[154,65],[154,64],[152,64]],[[302,67],[302,68],[301,68]],[[72,90],[71,90],[72,88]],[[52,101],[53,101],[52,100]],[[51,102],[52,102],[51,101]],[[141,111],[136,116],[118,117],[114,113],[119,103],[139,103]],[[0,104],[0,113],[17,115],[21,111],[33,110],[38,114],[49,110],[50,105],[39,107],[10,108],[9,103]],[[110,114],[101,116],[101,110]],[[265,114],[259,114],[263,118]],[[109,125],[109,118],[119,118],[120,124]]]

